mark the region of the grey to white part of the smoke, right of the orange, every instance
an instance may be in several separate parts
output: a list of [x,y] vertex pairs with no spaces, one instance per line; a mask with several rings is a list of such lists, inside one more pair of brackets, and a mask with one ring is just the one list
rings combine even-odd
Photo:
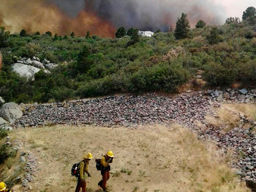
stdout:
[[191,26],[199,19],[208,25],[218,25],[224,20],[224,9],[210,0],[47,0],[62,11],[76,16],[80,10],[93,11],[116,28],[140,30],[167,30],[175,25],[184,12]]

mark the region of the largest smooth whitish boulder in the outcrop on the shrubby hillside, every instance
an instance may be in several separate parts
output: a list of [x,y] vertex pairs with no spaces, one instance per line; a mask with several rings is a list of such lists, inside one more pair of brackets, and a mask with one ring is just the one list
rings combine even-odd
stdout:
[[39,72],[40,69],[35,68],[30,65],[25,65],[21,63],[14,63],[12,65],[12,70],[15,73],[18,73],[20,76],[26,78],[26,79],[32,79],[35,80],[35,74]]

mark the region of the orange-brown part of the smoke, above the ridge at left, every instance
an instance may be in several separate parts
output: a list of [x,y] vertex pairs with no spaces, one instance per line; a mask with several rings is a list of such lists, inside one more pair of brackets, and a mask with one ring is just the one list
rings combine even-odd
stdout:
[[87,31],[93,35],[113,37],[116,29],[109,22],[98,18],[92,11],[81,11],[76,18],[70,18],[57,6],[43,0],[2,0],[0,3],[0,26],[11,33],[25,29],[29,33],[85,36]]

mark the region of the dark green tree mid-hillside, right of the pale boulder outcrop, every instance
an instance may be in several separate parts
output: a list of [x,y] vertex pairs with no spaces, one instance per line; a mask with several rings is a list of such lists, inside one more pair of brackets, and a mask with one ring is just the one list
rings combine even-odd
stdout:
[[90,66],[92,66],[93,64],[93,61],[88,58],[89,55],[90,55],[90,52],[87,46],[84,46],[83,49],[78,54],[76,69],[81,74],[86,73],[87,70],[90,69]]

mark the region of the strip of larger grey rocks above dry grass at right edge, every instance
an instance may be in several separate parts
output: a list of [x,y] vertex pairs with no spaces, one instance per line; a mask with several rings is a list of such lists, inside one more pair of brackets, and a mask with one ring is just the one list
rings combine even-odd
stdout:
[[256,89],[224,89],[224,90],[207,90],[207,93],[218,102],[224,100],[233,100],[239,103],[255,102]]

